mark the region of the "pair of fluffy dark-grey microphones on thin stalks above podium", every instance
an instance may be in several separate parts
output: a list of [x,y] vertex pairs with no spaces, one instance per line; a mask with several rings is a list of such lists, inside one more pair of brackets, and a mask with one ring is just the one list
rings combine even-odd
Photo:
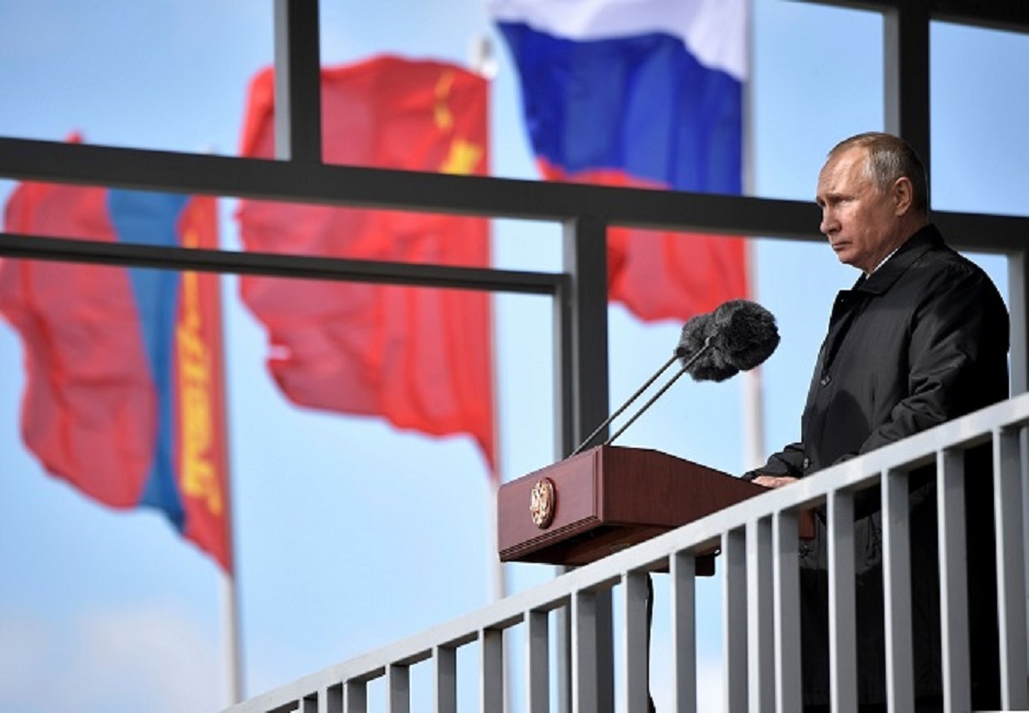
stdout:
[[597,437],[629,404],[657,381],[677,359],[682,367],[661,389],[645,403],[628,422],[604,441],[608,446],[622,435],[655,401],[660,399],[683,373],[694,381],[725,381],[740,371],[749,371],[772,356],[779,343],[775,318],[756,302],[737,299],[724,302],[710,314],[697,314],[682,327],[679,344],[672,357],[650,377],[628,400],[600,424],[593,433],[571,451],[575,456]]

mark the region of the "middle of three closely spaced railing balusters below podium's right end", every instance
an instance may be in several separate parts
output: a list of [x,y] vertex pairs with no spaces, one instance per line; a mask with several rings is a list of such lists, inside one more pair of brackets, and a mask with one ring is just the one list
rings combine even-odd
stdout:
[[751,711],[775,704],[775,651],[772,646],[772,521],[747,524],[747,657]]

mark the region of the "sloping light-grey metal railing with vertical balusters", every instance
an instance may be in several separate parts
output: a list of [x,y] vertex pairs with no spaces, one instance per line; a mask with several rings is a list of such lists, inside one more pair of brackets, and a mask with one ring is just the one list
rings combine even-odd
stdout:
[[[460,619],[354,659],[311,674],[240,703],[230,711],[359,713],[371,710],[369,686],[378,685],[384,710],[453,712],[459,687],[477,688],[477,706],[494,713],[558,710],[553,653],[560,626],[570,623],[567,694],[575,712],[647,710],[650,678],[647,577],[667,570],[672,701],[677,713],[697,710],[697,609],[695,557],[720,547],[722,584],[724,709],[800,710],[800,613],[798,514],[825,506],[830,548],[830,659],[834,711],[856,711],[854,651],[853,504],[856,492],[879,484],[882,495],[883,602],[888,701],[891,711],[913,711],[907,483],[912,468],[937,463],[943,679],[946,710],[970,710],[969,628],[964,595],[963,529],[966,449],[993,444],[996,515],[997,617],[1003,710],[1029,706],[1027,685],[1026,565],[1022,483],[1029,463],[1029,394],[944,424],[867,456],[770,491],[647,542],[570,571]],[[990,556],[979,553],[976,556]],[[613,681],[598,651],[604,635],[603,597],[617,590],[611,621]],[[610,601],[614,601],[612,598]],[[520,630],[520,652],[509,656]],[[459,653],[477,651],[477,665],[459,680]],[[412,667],[425,663],[431,692],[412,695]],[[657,664],[657,662],[652,662]],[[511,665],[521,667],[513,680]],[[463,669],[461,669],[463,672]],[[477,679],[477,680],[476,680]],[[507,679],[507,681],[505,680]],[[706,682],[705,682],[706,685]],[[517,697],[511,703],[508,697]],[[462,709],[464,710],[464,709]],[[706,711],[704,713],[707,713]]]

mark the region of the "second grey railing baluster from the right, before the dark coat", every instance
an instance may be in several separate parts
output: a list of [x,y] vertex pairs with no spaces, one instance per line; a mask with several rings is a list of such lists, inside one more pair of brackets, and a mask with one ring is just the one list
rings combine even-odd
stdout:
[[964,543],[964,452],[936,456],[939,493],[939,614],[943,644],[944,705],[968,711],[972,705],[969,662],[967,563]]

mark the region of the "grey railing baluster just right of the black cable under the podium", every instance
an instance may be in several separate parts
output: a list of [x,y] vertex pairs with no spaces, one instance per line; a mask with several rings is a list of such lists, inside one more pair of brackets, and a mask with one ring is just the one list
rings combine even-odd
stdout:
[[672,579],[673,713],[696,713],[696,560],[677,552],[669,564]]

